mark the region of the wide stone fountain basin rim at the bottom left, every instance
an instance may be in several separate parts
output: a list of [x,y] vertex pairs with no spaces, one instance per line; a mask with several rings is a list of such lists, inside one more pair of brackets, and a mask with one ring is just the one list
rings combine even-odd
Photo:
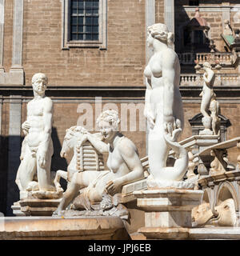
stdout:
[[118,217],[3,217],[0,240],[130,239]]

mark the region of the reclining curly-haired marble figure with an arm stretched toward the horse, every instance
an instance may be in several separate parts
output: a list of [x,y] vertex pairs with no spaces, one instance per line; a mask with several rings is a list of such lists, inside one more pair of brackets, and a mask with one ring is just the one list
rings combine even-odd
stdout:
[[79,145],[89,141],[101,154],[108,154],[106,166],[109,170],[85,170],[78,171],[71,179],[69,186],[54,215],[62,215],[66,206],[77,197],[82,190],[83,208],[91,210],[92,205],[102,202],[103,194],[118,194],[126,183],[144,178],[142,163],[138,156],[138,150],[130,139],[118,131],[118,113],[115,110],[106,110],[98,117],[97,125],[105,142],[94,136],[84,134]]

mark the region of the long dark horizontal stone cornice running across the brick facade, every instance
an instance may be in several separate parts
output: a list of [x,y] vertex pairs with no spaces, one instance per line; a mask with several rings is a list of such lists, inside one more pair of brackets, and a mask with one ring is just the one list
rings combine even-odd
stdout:
[[[180,86],[183,101],[199,102],[202,86]],[[80,98],[117,98],[117,99],[144,99],[145,86],[48,86],[46,95],[51,98],[80,99]],[[214,86],[218,100],[240,100],[240,86]],[[31,86],[0,86],[0,98],[7,99],[11,95],[19,95],[22,99],[32,98]]]

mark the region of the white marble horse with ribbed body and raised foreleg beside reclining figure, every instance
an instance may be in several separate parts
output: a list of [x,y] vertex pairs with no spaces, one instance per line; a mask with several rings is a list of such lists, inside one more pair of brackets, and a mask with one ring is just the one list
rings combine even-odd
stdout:
[[[66,130],[66,135],[62,143],[60,155],[62,158],[70,159],[67,170],[58,170],[54,178],[54,185],[57,191],[61,192],[60,178],[70,182],[74,173],[84,170],[104,170],[103,156],[99,154],[90,142],[82,143],[82,136],[88,131],[82,126],[72,126]],[[102,134],[93,134],[102,139]],[[80,142],[80,144],[79,144]]]

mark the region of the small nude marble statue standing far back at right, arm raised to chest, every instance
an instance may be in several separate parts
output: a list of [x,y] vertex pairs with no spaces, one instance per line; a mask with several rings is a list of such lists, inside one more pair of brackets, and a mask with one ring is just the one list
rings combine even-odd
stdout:
[[210,114],[208,113],[211,99],[214,98],[214,79],[215,74],[212,70],[209,62],[203,63],[203,70],[205,73],[203,74],[203,86],[202,86],[202,93],[199,96],[202,96],[201,102],[201,113],[204,118],[210,118]]

